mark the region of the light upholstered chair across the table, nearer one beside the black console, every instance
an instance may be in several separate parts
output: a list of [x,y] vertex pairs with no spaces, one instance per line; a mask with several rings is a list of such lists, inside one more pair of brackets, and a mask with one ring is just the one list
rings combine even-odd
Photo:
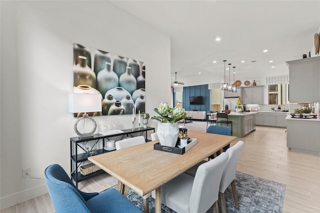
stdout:
[[[132,147],[135,145],[143,144],[145,143],[145,139],[143,136],[133,137],[133,138],[127,138],[120,141],[115,142],[115,149],[120,150],[127,147]],[[129,188],[125,186],[123,195],[126,197],[128,193]],[[146,194],[145,196],[142,196],[143,198],[143,212],[148,213],[149,212],[149,197],[151,196],[151,193]]]

